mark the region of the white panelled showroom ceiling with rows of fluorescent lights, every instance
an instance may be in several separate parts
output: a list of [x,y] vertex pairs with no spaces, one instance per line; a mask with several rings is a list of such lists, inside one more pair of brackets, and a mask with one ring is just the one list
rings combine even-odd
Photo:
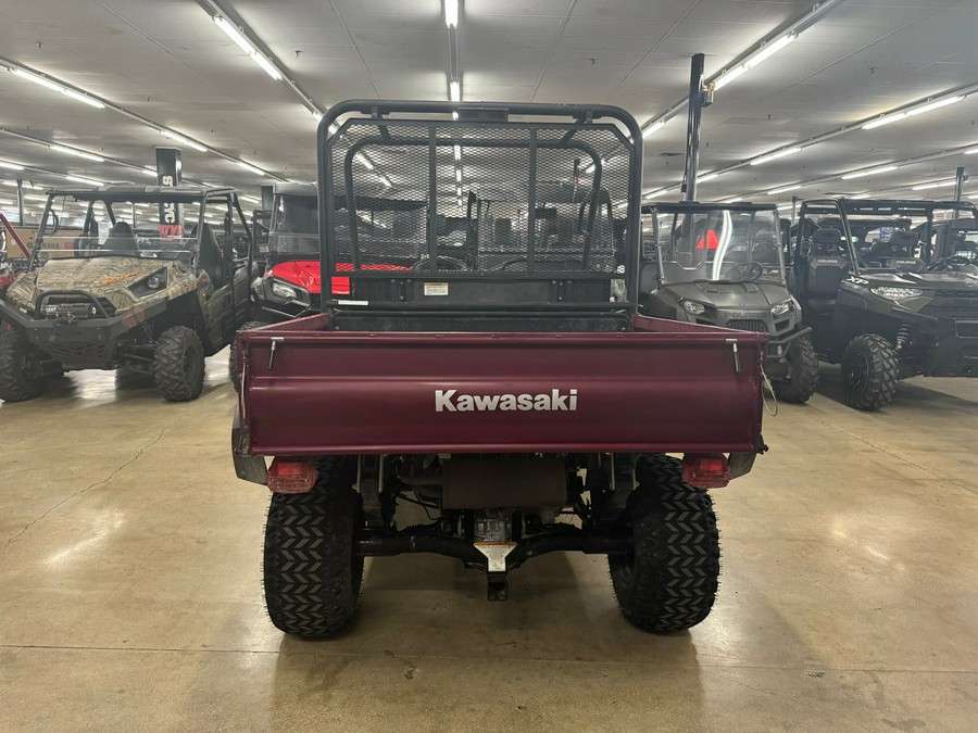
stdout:
[[[243,27],[251,54],[213,15]],[[0,177],[148,180],[153,147],[174,144],[165,128],[205,150],[179,146],[187,179],[256,195],[314,178],[313,112],[447,99],[454,61],[464,101],[618,104],[643,125],[673,110],[645,140],[644,190],[676,199],[690,55],[705,53],[715,79],[789,35],[704,110],[701,200],[946,198],[913,187],[978,164],[975,0],[829,0],[814,14],[807,0],[464,0],[454,33],[453,60],[442,0],[4,0],[0,64],[72,93],[0,69],[0,165],[27,166]],[[749,164],[772,152],[789,154]],[[842,178],[861,170],[876,174]]]

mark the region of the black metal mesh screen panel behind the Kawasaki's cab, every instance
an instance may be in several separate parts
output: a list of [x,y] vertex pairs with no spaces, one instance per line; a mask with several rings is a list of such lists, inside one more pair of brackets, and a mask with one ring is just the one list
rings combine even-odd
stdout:
[[334,273],[611,278],[624,264],[614,217],[638,192],[614,125],[354,118],[326,146]]

